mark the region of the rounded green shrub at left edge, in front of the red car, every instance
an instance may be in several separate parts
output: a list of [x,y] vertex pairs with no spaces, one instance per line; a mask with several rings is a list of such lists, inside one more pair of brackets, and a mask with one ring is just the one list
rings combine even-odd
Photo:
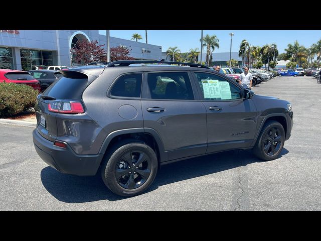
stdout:
[[0,117],[16,115],[34,107],[38,94],[26,84],[0,83]]

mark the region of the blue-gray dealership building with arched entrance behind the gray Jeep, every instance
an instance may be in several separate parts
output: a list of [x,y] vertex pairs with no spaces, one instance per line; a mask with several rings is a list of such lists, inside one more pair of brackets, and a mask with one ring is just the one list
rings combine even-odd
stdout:
[[[31,70],[39,66],[73,66],[70,49],[77,41],[98,41],[106,49],[107,38],[98,30],[0,30],[0,69]],[[110,47],[125,46],[136,60],[159,60],[162,46],[110,37]]]

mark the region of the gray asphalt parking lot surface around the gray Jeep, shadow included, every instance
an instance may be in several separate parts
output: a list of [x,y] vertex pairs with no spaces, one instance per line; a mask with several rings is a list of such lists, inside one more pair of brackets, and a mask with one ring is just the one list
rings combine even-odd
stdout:
[[147,192],[114,195],[99,175],[57,172],[37,155],[33,128],[0,124],[0,210],[321,210],[321,84],[275,77],[252,89],[292,103],[281,156],[229,151],[162,166]]

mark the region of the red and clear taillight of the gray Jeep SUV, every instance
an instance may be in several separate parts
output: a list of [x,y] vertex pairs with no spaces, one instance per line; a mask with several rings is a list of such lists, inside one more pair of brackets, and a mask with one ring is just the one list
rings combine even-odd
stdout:
[[84,112],[84,108],[79,101],[50,101],[48,103],[48,110],[66,114],[79,114]]

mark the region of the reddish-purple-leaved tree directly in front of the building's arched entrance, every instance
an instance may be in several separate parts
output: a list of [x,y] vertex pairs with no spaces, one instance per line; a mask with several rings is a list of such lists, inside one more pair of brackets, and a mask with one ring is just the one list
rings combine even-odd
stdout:
[[102,56],[106,55],[104,45],[98,45],[98,41],[80,40],[77,47],[70,49],[73,58],[82,65],[101,61]]

